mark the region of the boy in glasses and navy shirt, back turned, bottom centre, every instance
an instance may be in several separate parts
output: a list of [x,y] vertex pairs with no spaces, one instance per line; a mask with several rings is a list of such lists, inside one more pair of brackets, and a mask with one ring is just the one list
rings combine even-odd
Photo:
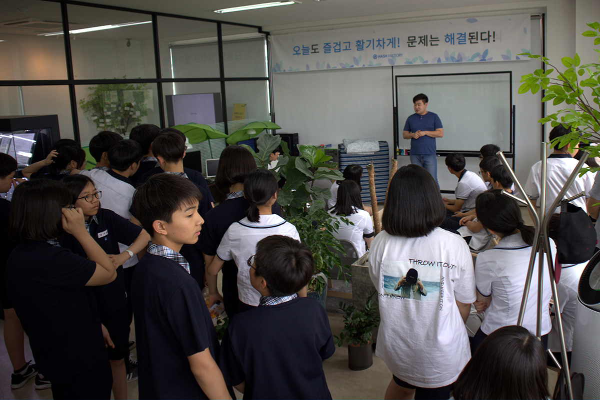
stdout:
[[325,309],[298,290],[313,275],[305,244],[272,235],[248,259],[259,307],[236,314],[221,344],[219,365],[244,399],[331,399],[323,360],[335,347]]

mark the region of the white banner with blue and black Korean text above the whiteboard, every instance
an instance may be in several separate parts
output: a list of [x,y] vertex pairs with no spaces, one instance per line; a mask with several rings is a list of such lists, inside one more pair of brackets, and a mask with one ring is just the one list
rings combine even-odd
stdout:
[[272,35],[272,71],[519,60],[529,27],[517,14]]

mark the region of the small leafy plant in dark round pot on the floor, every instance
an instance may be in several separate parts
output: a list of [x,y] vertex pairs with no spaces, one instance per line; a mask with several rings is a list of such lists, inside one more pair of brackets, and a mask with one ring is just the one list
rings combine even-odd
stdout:
[[371,339],[374,328],[379,326],[379,314],[373,306],[371,293],[361,309],[353,305],[345,305],[340,301],[338,307],[344,313],[344,328],[340,336],[334,336],[335,344],[341,347],[344,342],[348,344],[348,368],[361,371],[373,365],[373,348]]

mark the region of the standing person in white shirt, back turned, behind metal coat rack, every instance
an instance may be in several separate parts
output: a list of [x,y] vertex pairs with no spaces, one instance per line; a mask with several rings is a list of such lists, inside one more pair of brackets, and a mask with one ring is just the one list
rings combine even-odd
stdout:
[[[555,126],[550,132],[550,140],[554,140],[570,132],[571,128],[565,128],[562,125]],[[544,208],[548,213],[550,206],[554,202],[554,199],[565,186],[566,180],[577,166],[577,160],[573,156],[577,153],[577,149],[570,150],[569,145],[560,147],[560,144],[554,146],[554,151],[547,160],[547,172],[546,172],[546,199]],[[524,186],[525,193],[533,201],[535,207],[538,202],[538,198],[541,192],[541,175],[542,175],[542,162],[538,161],[531,167],[529,171],[529,177],[527,183]],[[575,181],[571,184],[571,187],[566,191],[564,198],[569,198],[577,195],[578,193],[585,192],[585,197],[580,197],[572,201],[572,204],[581,207],[582,210],[586,210],[586,199],[589,198],[590,189],[592,189],[594,177],[591,172],[587,172],[582,177],[577,175]],[[556,208],[554,213],[557,213],[560,209]]]

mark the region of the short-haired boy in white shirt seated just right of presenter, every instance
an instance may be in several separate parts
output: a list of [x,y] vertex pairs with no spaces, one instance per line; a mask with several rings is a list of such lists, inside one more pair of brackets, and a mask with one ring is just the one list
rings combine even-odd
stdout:
[[446,219],[440,226],[444,229],[456,231],[460,226],[458,222],[463,216],[455,214],[459,211],[465,213],[475,208],[475,199],[479,193],[485,192],[487,187],[485,187],[484,181],[481,180],[478,174],[464,169],[466,162],[463,154],[448,154],[445,161],[448,171],[458,178],[458,184],[454,190],[456,199],[442,198],[446,207]]

